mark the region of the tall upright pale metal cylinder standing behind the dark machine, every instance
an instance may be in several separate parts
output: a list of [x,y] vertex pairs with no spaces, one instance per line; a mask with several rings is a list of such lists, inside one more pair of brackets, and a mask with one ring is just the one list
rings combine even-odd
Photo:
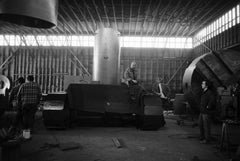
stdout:
[[120,83],[119,32],[111,28],[97,30],[93,55],[93,81]]

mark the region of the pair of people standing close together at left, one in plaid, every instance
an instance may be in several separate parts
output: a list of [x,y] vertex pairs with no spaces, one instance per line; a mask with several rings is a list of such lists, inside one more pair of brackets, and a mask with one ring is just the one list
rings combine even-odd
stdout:
[[34,116],[41,98],[41,89],[34,82],[33,75],[29,75],[25,82],[23,77],[16,81],[15,87],[9,94],[9,104],[16,109],[17,114],[9,130],[20,131],[23,139],[30,139],[34,124]]

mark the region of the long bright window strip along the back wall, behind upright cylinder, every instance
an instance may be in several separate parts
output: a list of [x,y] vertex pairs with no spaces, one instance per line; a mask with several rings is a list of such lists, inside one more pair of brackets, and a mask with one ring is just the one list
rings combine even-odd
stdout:
[[[94,46],[94,36],[64,35],[0,35],[1,46]],[[121,47],[192,48],[186,37],[120,37]]]

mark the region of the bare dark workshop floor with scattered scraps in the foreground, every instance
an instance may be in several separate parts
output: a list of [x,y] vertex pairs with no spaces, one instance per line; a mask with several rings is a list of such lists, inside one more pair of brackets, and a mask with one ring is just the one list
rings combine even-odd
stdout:
[[[218,141],[201,144],[197,127],[178,126],[169,118],[157,131],[141,131],[134,126],[46,130],[41,119],[36,126],[33,138],[21,146],[22,161],[191,161],[194,156],[200,161],[229,160],[216,148]],[[216,139],[220,131],[220,126],[214,126]],[[114,138],[119,139],[121,148],[115,146]],[[61,150],[66,144],[79,148]]]

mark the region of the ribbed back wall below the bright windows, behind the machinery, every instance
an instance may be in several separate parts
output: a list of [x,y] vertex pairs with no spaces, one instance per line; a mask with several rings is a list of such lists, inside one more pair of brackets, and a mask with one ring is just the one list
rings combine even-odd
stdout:
[[[137,62],[138,78],[145,88],[150,88],[155,77],[160,76],[174,91],[181,90],[182,76],[192,54],[190,49],[121,49],[121,74]],[[9,56],[12,57],[10,58]],[[9,61],[0,71],[11,80],[33,74],[44,93],[64,91],[65,76],[83,76],[82,63],[92,74],[92,47],[0,47],[0,65]]]

